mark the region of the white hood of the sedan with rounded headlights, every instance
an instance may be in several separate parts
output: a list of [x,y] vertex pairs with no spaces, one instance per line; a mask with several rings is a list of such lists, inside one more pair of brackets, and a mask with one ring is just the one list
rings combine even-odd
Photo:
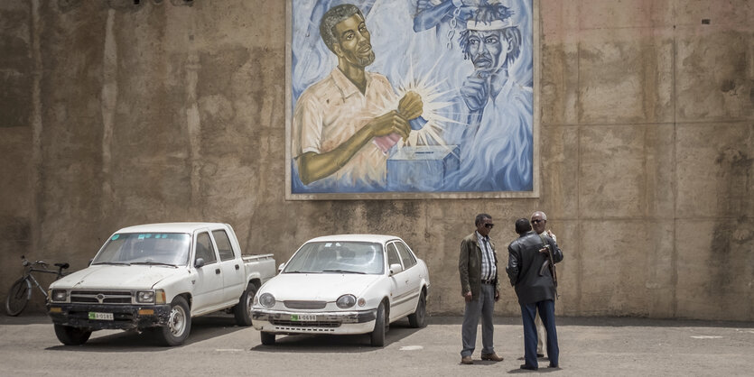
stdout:
[[335,301],[344,294],[360,297],[380,275],[340,273],[281,273],[267,281],[262,292],[280,301]]

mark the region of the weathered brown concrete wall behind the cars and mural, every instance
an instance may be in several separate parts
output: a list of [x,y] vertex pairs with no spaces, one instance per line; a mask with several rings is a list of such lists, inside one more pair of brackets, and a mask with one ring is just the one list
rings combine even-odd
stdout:
[[21,254],[80,269],[121,226],[209,220],[279,261],[400,235],[459,314],[473,217],[505,260],[542,209],[559,314],[754,320],[750,1],[542,0],[541,198],[313,202],[284,200],[285,2],[141,3],[0,3],[0,287]]

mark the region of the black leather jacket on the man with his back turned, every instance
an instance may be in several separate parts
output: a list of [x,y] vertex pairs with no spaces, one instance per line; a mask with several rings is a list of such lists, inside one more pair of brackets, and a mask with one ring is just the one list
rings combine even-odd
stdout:
[[[544,241],[544,242],[543,242]],[[510,285],[516,287],[519,304],[533,304],[547,299],[555,299],[553,275],[549,269],[543,270],[546,254],[539,253],[550,245],[555,263],[563,261],[563,252],[548,236],[528,232],[522,234],[507,247],[507,275]],[[541,274],[540,274],[541,273]]]

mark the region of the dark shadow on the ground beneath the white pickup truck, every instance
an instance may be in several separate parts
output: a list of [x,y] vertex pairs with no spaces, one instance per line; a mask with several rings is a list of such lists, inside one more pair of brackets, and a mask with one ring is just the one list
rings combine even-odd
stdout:
[[[225,336],[248,327],[236,326],[232,315],[215,314],[191,319],[191,334],[183,345],[192,345],[217,336]],[[136,330],[102,330],[114,332],[107,336],[97,336],[92,333],[87,343],[83,345],[54,345],[46,348],[51,351],[86,351],[86,352],[118,352],[134,351],[135,348],[148,351],[168,351],[172,347],[160,345],[149,333],[139,333]],[[183,346],[179,345],[179,346]]]

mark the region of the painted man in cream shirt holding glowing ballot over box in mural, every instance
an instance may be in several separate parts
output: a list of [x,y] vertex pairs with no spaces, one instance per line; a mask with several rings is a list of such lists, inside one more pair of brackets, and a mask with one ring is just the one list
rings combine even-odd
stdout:
[[375,53],[357,6],[330,8],[320,34],[338,66],[296,102],[292,155],[298,178],[322,191],[383,189],[387,151],[408,137],[408,122],[422,115],[422,99],[408,92],[398,101],[387,78],[365,70]]

